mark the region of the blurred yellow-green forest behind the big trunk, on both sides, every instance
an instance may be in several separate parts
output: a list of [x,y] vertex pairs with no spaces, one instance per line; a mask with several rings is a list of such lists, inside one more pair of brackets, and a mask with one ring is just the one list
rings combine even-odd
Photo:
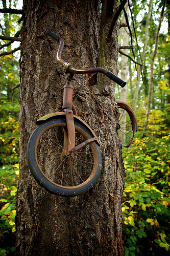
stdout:
[[[119,35],[120,45],[125,45],[125,37],[128,45],[133,45],[133,49],[119,50],[118,75],[127,79],[124,100],[133,105],[138,121],[138,132],[132,146],[123,148],[126,171],[122,201],[125,256],[168,255],[170,249],[170,3],[166,2],[158,31],[163,3],[131,1],[130,10],[126,8],[128,27],[123,27]],[[22,7],[17,1],[2,1],[0,8]],[[123,12],[119,19],[121,22],[125,19],[127,23]],[[12,13],[2,13],[0,20],[1,35],[18,40],[0,37],[0,255],[14,255],[15,195],[19,174],[19,34],[22,22],[21,14]],[[159,42],[156,49],[157,32]],[[126,74],[124,61],[127,63]],[[151,109],[147,129],[144,129],[150,87]],[[116,98],[123,99],[122,93],[117,88]]]

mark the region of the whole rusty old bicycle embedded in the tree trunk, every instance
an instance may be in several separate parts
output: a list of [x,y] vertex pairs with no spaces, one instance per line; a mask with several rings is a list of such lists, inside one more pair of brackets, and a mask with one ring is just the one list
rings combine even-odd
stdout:
[[[69,79],[63,91],[63,112],[45,115],[36,121],[38,127],[27,145],[27,162],[35,180],[47,191],[59,196],[78,196],[98,181],[102,156],[98,138],[91,127],[77,116],[72,103],[71,79],[75,73],[101,72],[122,87],[126,82],[103,68],[75,69],[61,58],[64,47],[62,38],[50,30],[46,33],[60,43],[57,60],[69,73]],[[130,116],[133,126],[132,143],[137,124],[135,115],[127,103],[116,102]],[[118,122],[116,130],[121,130]]]

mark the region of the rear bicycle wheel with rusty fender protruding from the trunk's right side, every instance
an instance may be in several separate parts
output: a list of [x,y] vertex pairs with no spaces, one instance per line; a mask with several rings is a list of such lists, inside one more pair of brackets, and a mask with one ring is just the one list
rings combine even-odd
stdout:
[[[116,100],[118,109],[123,112],[120,114],[116,122],[116,130],[118,137],[124,147],[129,147],[134,140],[135,133],[137,132],[137,119],[131,106],[123,100]],[[123,115],[126,115],[126,122],[123,120]],[[128,126],[126,125],[128,123]],[[124,136],[121,136],[123,135]]]

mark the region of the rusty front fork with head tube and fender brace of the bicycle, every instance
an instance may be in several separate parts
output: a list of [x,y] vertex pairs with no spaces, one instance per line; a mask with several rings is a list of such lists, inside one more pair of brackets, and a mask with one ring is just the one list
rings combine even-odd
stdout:
[[74,155],[74,153],[80,150],[82,147],[86,146],[88,143],[96,140],[95,137],[80,143],[75,146],[75,124],[74,124],[74,115],[77,116],[77,112],[74,104],[72,104],[72,94],[73,87],[70,81],[66,81],[63,92],[63,106],[62,109],[65,112],[66,125],[67,127],[63,127],[64,130],[64,151],[65,154],[63,158],[69,155]]

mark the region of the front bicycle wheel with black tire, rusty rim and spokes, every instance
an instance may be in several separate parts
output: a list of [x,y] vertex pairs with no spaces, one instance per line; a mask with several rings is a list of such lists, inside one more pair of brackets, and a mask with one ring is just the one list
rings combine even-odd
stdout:
[[[94,137],[84,123],[74,122],[76,138],[79,137],[77,143]],[[59,143],[63,142],[64,127],[66,121],[61,117],[47,120],[39,125],[29,139],[27,161],[33,177],[47,191],[59,196],[78,196],[88,191],[98,181],[102,156],[99,144],[95,140],[76,152],[73,158],[67,157],[63,160],[61,155],[63,148]],[[54,139],[57,142],[54,142]],[[60,156],[56,160],[58,153]],[[84,160],[81,159],[82,155]],[[84,161],[84,164],[80,164],[80,161]],[[92,170],[89,170],[91,166]],[[66,172],[66,169],[70,172]]]

